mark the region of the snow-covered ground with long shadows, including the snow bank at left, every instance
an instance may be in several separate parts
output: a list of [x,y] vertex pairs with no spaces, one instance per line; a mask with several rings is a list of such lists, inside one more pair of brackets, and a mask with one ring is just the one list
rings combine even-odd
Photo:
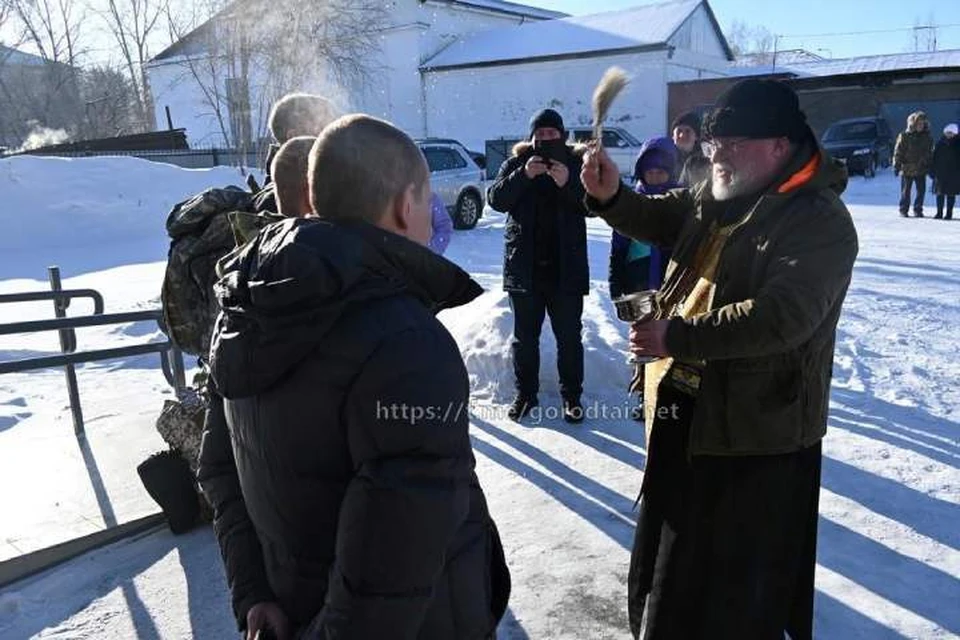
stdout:
[[[242,178],[132,159],[2,160],[0,292],[46,289],[44,269],[57,263],[65,287],[99,289],[108,312],[153,307],[170,205],[229,182]],[[896,199],[889,172],[852,179],[845,195],[861,251],[824,449],[822,638],[960,636],[960,222],[902,219]],[[626,638],[644,449],[642,428],[623,419],[626,328],[607,296],[609,230],[589,223],[584,400],[595,415],[577,427],[552,411],[523,425],[505,417],[511,322],[499,290],[502,234],[502,216],[488,210],[477,229],[454,235],[448,257],[488,292],[441,316],[473,379],[478,472],[513,574],[500,637]],[[70,312],[85,313],[83,304]],[[0,322],[50,316],[49,303],[4,306],[12,308],[0,307]],[[83,348],[156,337],[137,325],[78,333]],[[0,359],[57,346],[54,334],[0,337]],[[541,402],[557,407],[548,327],[543,352]],[[86,365],[78,377],[88,417],[82,448],[60,371],[0,377],[0,559],[154,509],[133,468],[162,444],[153,421],[170,392],[157,358]],[[235,637],[213,536],[149,532],[11,585],[0,591],[0,637]]]

